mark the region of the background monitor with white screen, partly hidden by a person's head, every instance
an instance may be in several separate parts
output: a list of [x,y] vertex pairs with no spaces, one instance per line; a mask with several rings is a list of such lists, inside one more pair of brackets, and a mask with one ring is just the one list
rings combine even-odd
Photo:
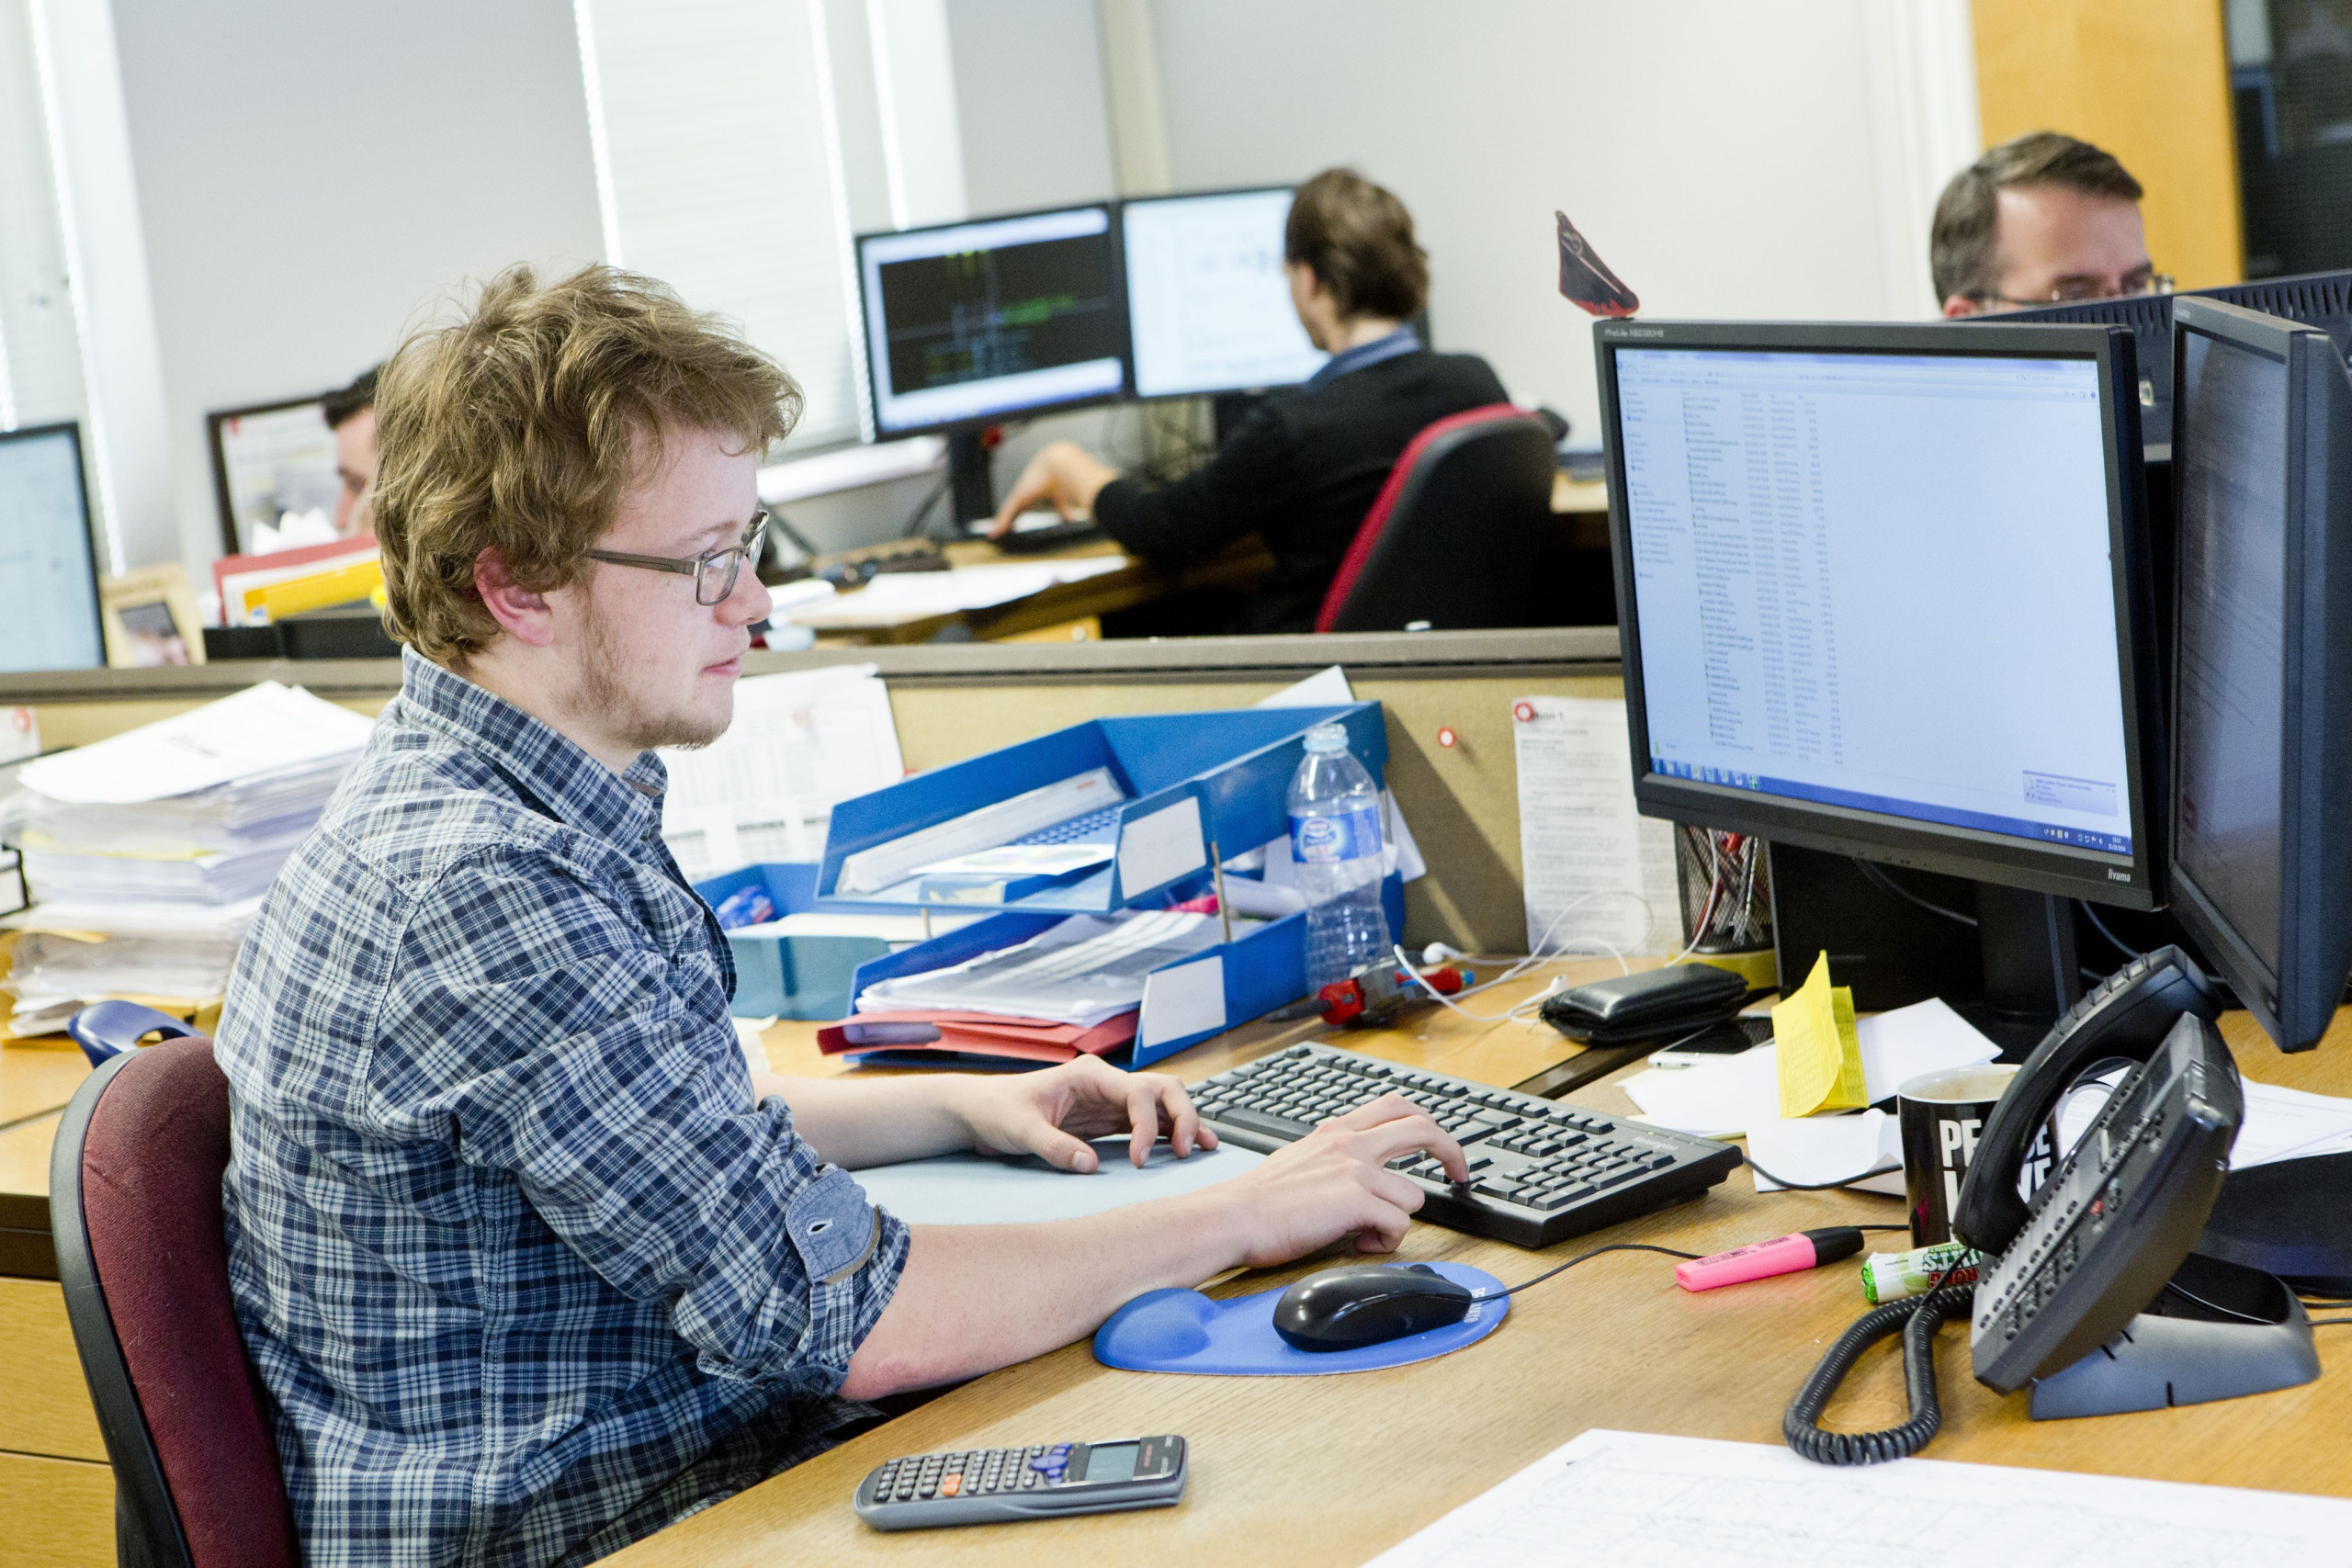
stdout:
[[1120,205],[1136,397],[1251,393],[1322,369],[1282,273],[1289,216],[1289,186]]

